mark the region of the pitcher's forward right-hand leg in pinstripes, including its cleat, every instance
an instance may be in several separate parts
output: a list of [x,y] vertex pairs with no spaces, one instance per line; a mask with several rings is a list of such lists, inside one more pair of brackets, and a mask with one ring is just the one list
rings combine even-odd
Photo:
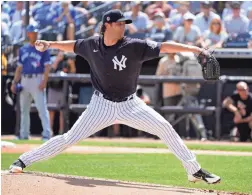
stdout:
[[187,148],[170,123],[139,98],[122,104],[119,116],[124,124],[157,135],[163,140],[170,151],[182,162],[189,181],[204,180],[207,183],[220,181],[219,176],[201,169],[196,156]]

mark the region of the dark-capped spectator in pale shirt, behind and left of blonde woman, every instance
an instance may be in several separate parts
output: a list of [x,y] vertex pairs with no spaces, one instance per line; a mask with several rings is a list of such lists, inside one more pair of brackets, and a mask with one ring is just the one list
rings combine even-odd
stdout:
[[198,26],[201,33],[204,33],[209,29],[211,20],[214,18],[220,18],[217,14],[211,11],[212,3],[209,1],[203,1],[201,3],[201,13],[197,14],[193,22],[194,25]]

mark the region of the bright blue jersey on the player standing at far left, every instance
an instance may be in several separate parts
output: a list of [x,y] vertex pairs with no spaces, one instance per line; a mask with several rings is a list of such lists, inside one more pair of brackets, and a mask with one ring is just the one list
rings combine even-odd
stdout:
[[42,74],[45,65],[50,65],[49,51],[40,52],[31,44],[26,44],[19,49],[18,66],[23,67],[23,74]]

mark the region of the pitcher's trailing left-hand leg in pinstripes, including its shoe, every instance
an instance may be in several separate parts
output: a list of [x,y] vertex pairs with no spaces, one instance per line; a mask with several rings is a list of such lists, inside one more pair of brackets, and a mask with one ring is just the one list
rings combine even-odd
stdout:
[[115,107],[101,97],[94,97],[87,110],[73,125],[71,130],[63,135],[55,136],[40,147],[22,154],[10,166],[10,172],[22,172],[23,168],[34,162],[52,158],[67,147],[89,137],[97,131],[112,125],[115,120]]

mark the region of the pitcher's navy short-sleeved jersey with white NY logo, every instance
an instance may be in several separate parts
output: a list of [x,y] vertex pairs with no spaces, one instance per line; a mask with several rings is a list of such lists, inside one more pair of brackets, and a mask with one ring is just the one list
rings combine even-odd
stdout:
[[111,98],[124,98],[136,91],[144,61],[157,58],[161,43],[123,37],[105,46],[102,36],[77,40],[74,52],[85,58],[94,88]]

